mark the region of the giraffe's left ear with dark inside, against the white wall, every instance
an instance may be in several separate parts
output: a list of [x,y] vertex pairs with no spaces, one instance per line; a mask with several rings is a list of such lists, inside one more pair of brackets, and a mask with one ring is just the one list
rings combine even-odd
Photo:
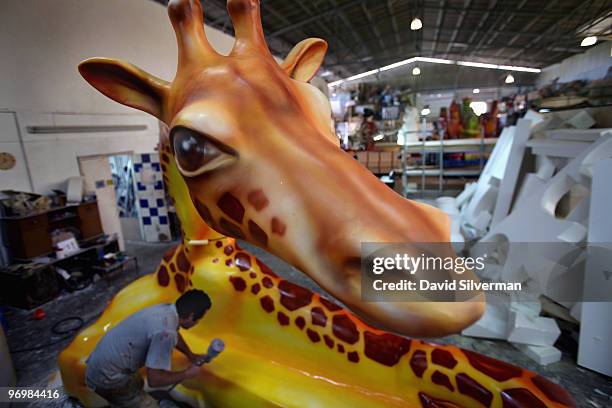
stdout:
[[79,64],[87,82],[123,105],[150,113],[163,121],[164,100],[170,86],[132,64],[109,58],[90,58]]

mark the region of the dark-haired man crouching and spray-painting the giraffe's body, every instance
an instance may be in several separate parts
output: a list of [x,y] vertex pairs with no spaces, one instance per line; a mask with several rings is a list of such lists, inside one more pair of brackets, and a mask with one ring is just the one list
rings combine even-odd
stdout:
[[[87,359],[87,386],[112,407],[157,407],[157,401],[144,391],[138,371],[146,368],[147,382],[153,388],[197,376],[208,357],[193,353],[178,329],[194,327],[210,307],[206,293],[190,290],[174,304],[150,306],[121,321]],[[171,370],[175,348],[191,361],[187,369]]]

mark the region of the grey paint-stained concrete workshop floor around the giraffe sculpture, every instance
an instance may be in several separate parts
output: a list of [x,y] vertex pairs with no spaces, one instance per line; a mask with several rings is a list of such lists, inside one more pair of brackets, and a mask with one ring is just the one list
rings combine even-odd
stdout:
[[[100,280],[82,291],[65,294],[47,303],[43,306],[47,314],[43,320],[31,319],[31,312],[28,311],[9,309],[6,316],[9,323],[7,338],[19,379],[18,385],[54,387],[61,390],[56,359],[74,334],[54,335],[51,331],[52,326],[65,317],[75,315],[82,318],[85,324],[95,320],[115,293],[134,279],[155,270],[162,254],[173,245],[175,244],[128,243],[127,252],[137,258],[138,269],[125,271],[112,279]],[[255,254],[278,275],[324,293],[316,283],[280,259],[247,243],[241,243],[241,246]],[[546,367],[539,366],[504,341],[489,341],[460,335],[438,338],[434,341],[455,344],[538,372],[567,388],[579,407],[612,407],[612,381],[608,377],[576,366],[575,342],[569,335],[562,335],[556,344],[563,351],[563,359]],[[79,407],[80,405],[69,400],[62,392],[62,398],[53,404],[32,403],[30,406]]]

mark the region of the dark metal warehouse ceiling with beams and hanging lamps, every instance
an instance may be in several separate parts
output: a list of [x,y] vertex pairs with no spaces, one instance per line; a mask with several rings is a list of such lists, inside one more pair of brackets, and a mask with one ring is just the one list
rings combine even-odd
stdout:
[[[226,2],[202,4],[206,23],[233,35]],[[304,38],[327,40],[330,80],[413,56],[543,68],[612,32],[612,0],[261,0],[261,14],[280,57]],[[421,30],[410,30],[414,17]]]

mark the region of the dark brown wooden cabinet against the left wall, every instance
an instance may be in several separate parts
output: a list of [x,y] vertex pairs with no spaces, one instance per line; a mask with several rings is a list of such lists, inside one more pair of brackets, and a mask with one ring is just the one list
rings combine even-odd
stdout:
[[51,234],[67,229],[79,240],[102,235],[98,203],[90,201],[78,205],[53,208],[46,212],[2,219],[6,244],[13,258],[30,259],[53,252]]

